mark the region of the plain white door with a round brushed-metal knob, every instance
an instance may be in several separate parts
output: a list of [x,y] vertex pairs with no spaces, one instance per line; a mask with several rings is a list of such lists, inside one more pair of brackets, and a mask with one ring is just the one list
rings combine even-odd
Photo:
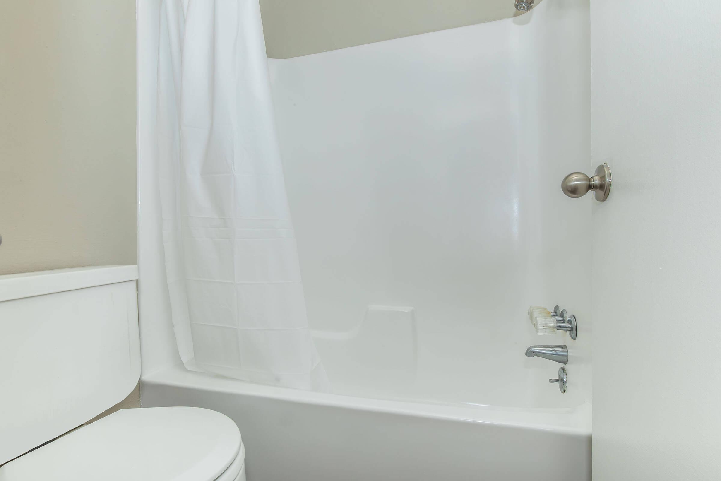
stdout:
[[721,2],[590,22],[593,480],[721,480]]

